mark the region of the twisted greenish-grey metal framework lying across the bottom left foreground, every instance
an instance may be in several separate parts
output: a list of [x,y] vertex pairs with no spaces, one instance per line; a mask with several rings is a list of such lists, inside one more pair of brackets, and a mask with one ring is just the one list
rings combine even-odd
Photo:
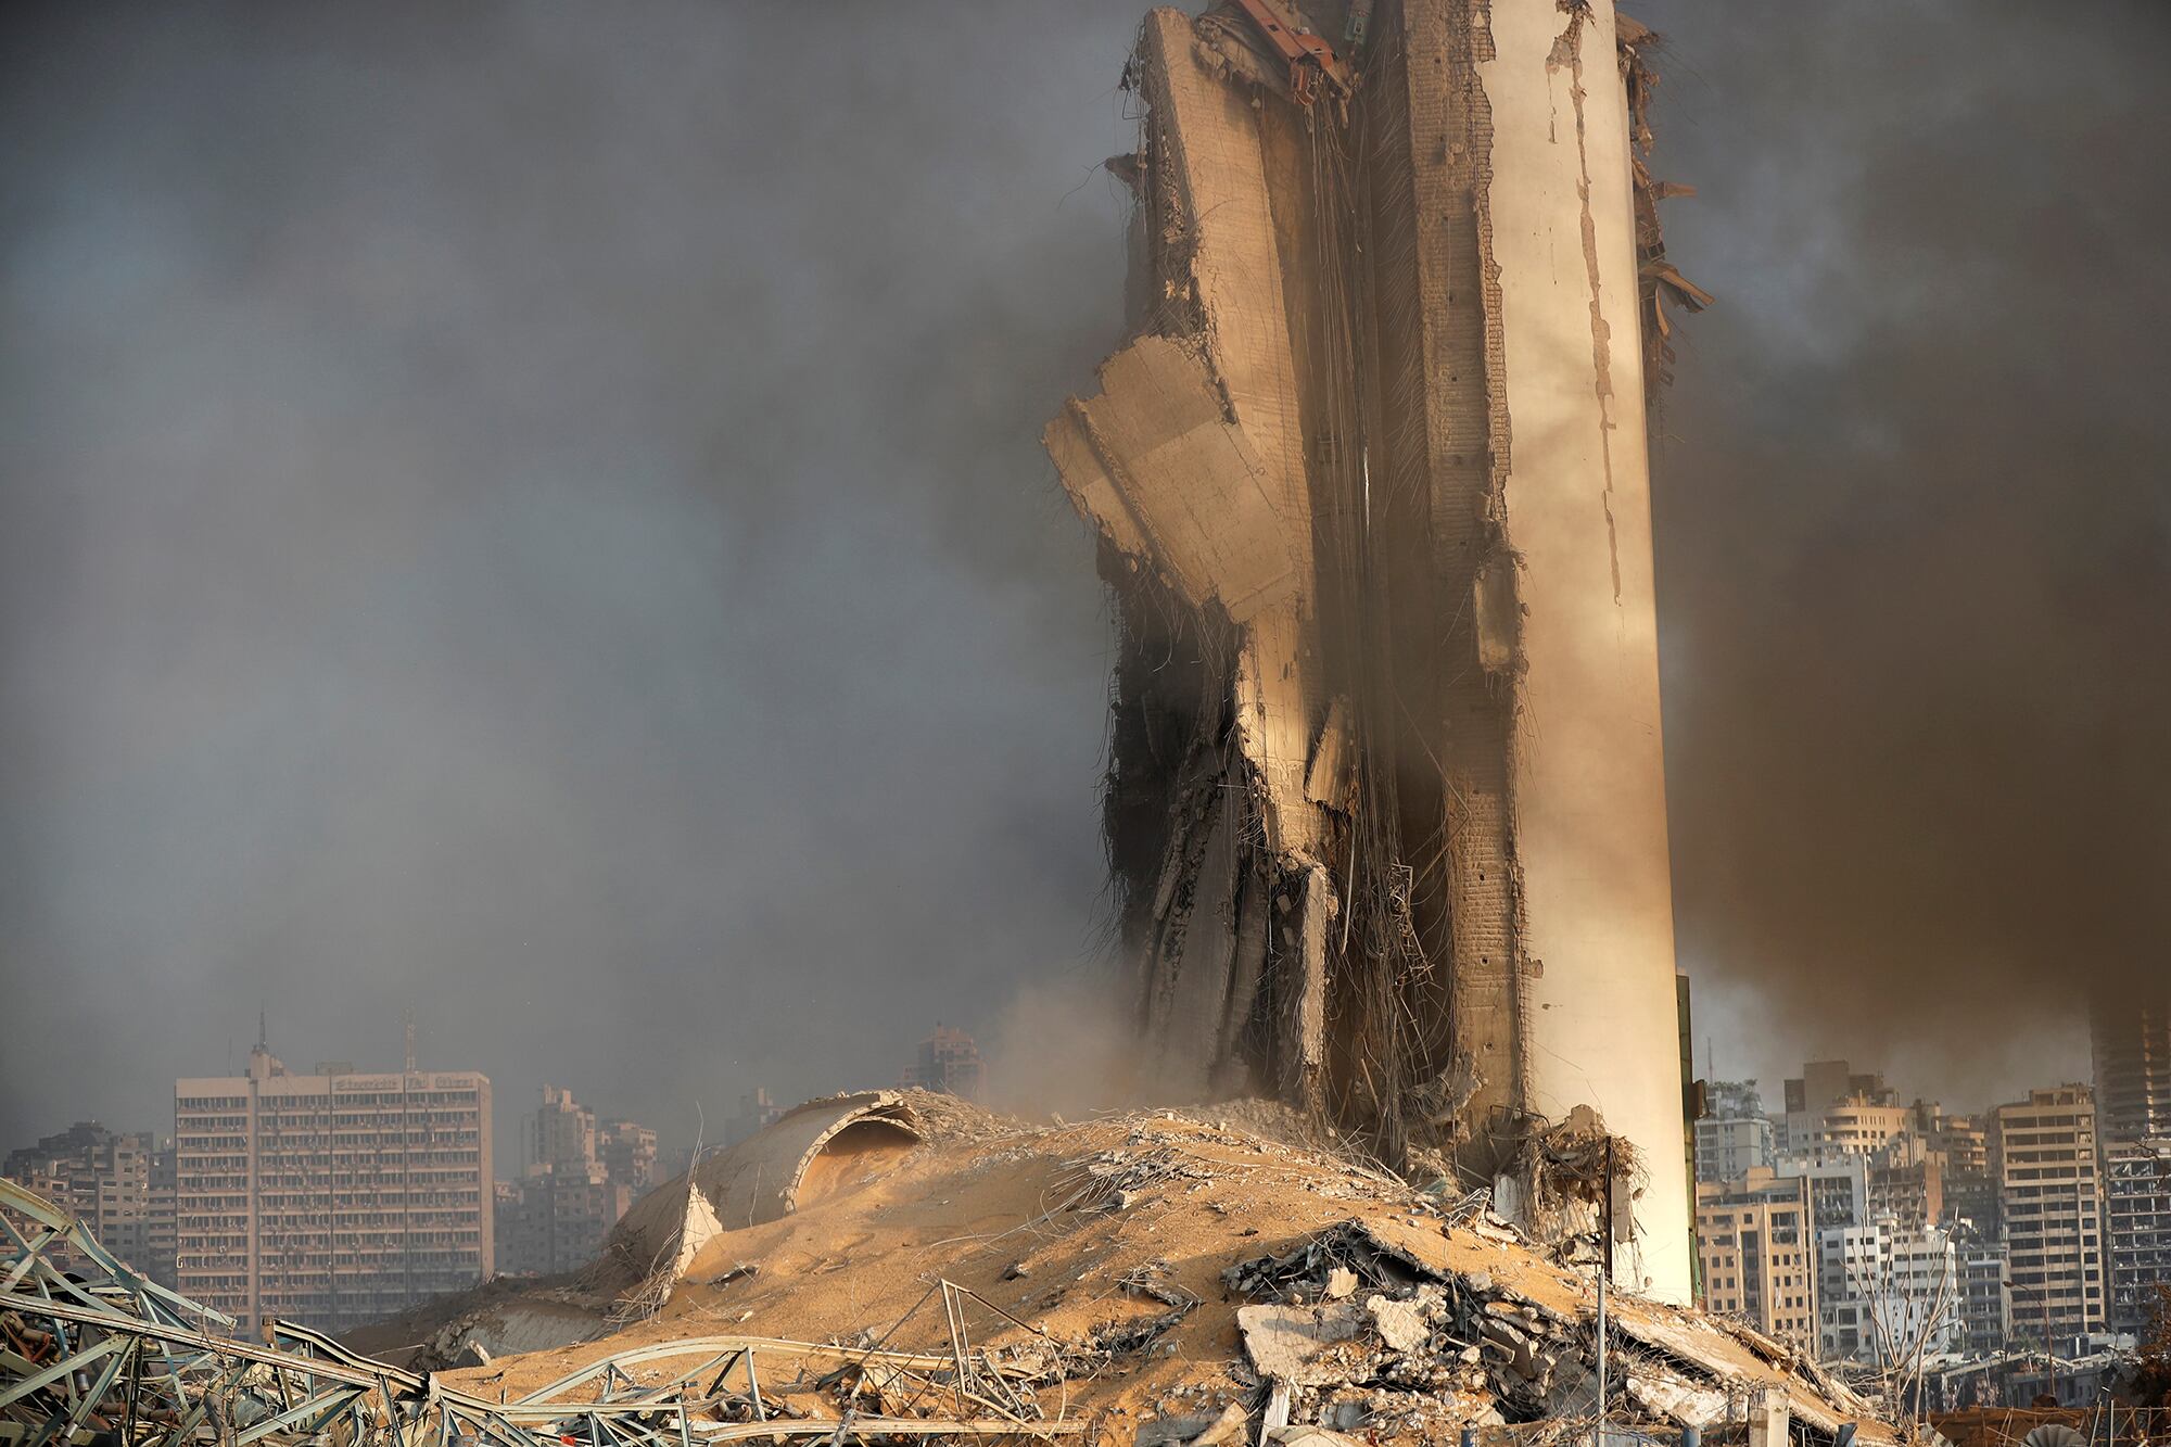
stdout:
[[[515,1401],[488,1401],[347,1351],[282,1321],[265,1343],[117,1260],[52,1201],[0,1180],[0,1443],[9,1447],[693,1447],[738,1440],[1055,1438],[1033,1369],[955,1338],[949,1356],[769,1336],[697,1336],[591,1362]],[[54,1264],[65,1243],[89,1271]],[[675,1362],[658,1369],[658,1362]],[[879,1393],[955,1399],[957,1414],[792,1417],[762,1397],[762,1362],[829,1362]],[[636,1375],[636,1367],[647,1367]],[[769,1367],[775,1380],[775,1367]]]

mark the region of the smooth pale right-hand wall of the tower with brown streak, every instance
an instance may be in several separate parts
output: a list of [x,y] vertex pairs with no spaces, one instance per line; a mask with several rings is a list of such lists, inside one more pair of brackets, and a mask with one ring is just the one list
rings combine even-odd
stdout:
[[1689,1299],[1635,198],[1611,0],[1491,2],[1491,237],[1522,558],[1515,710],[1531,1108],[1589,1104],[1648,1182],[1628,1273]]

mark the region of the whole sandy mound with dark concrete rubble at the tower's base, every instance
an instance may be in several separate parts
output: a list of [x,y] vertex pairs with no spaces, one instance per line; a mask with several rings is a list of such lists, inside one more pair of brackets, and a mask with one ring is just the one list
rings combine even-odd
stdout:
[[[962,1345],[1038,1362],[1036,1414],[1086,1421],[1107,1443],[1255,1443],[1283,1421],[1277,1440],[1316,1423],[1452,1443],[1465,1425],[1596,1408],[1594,1269],[1548,1260],[1483,1197],[1413,1188],[1259,1104],[1055,1125],[912,1104],[921,1143],[821,1158],[792,1215],[725,1221],[653,1317],[623,1321],[638,1273],[606,1264],[456,1297],[352,1345],[430,1336],[445,1351],[467,1332],[519,1351],[536,1338],[523,1323],[547,1336],[588,1312],[591,1341],[445,1373],[486,1397],[673,1338]],[[1609,1314],[1615,1419],[1709,1432],[1778,1393],[1798,1438],[1843,1421],[1865,1443],[1891,1436],[1782,1343],[1620,1293]],[[947,1406],[888,1401],[864,1375],[840,1386],[831,1364],[762,1393],[766,1410],[808,1417]]]

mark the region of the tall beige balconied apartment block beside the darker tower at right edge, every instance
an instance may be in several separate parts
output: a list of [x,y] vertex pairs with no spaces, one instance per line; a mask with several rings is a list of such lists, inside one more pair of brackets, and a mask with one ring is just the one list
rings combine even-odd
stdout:
[[2106,1323],[2095,1095],[2084,1084],[2030,1091],[1991,1112],[1991,1175],[2010,1256],[2013,1328],[2075,1336]]

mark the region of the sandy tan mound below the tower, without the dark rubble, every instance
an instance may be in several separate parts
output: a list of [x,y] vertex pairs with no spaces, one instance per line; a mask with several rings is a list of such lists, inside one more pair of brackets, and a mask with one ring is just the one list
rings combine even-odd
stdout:
[[[1122,1284],[1133,1278],[1196,1297],[1198,1308],[1148,1351],[1114,1356],[1064,1393],[1066,1414],[1101,1419],[1116,1440],[1129,1440],[1129,1427],[1146,1417],[1211,1410],[1255,1391],[1235,1328],[1242,1301],[1224,1299],[1227,1267],[1285,1251],[1353,1217],[1446,1243],[1433,1197],[1337,1156],[1331,1143],[1305,1141],[1303,1128],[1272,1108],[1237,1106],[1235,1117],[1153,1112],[1025,1125],[951,1112],[918,1145],[899,1145],[894,1132],[840,1138],[842,1149],[818,1160],[818,1180],[810,1175],[797,1212],[725,1230],[658,1317],[445,1380],[517,1397],[630,1347],[723,1334],[881,1338],[894,1349],[949,1351],[936,1295],[942,1280],[988,1304],[966,1304],[975,1347],[1023,1343],[1033,1332],[1083,1345],[1112,1323],[1170,1310],[1166,1299]],[[1500,1275],[1496,1241],[1472,1236],[1468,1249]],[[1554,1269],[1535,1258],[1531,1267],[1533,1286],[1559,1301]],[[834,1414],[812,1397],[792,1406]]]

